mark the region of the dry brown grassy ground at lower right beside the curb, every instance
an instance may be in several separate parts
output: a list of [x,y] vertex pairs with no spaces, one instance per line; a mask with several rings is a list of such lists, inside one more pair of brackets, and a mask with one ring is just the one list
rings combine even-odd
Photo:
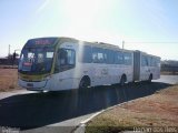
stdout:
[[134,126],[178,127],[178,85],[101,113],[87,123],[86,132],[132,131]]

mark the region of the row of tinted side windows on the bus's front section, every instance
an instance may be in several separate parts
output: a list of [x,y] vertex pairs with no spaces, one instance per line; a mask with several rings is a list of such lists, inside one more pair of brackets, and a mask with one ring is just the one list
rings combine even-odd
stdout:
[[82,63],[106,63],[106,64],[126,64],[131,65],[131,53],[113,51],[109,49],[91,48],[85,45],[81,54],[79,54],[79,61]]

